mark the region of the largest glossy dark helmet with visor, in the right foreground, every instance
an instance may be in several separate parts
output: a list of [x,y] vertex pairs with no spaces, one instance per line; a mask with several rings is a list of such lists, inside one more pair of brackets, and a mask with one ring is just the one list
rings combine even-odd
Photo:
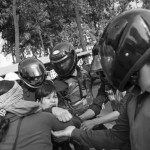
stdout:
[[120,91],[135,84],[150,59],[150,10],[134,9],[114,18],[99,41],[102,68]]

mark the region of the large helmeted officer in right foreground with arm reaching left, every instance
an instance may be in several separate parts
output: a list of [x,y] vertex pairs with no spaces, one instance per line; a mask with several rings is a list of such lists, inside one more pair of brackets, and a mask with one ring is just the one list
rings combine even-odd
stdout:
[[[69,127],[55,136],[71,136],[101,148],[150,149],[150,10],[134,9],[115,17],[101,40],[101,62],[108,80],[120,91],[134,86],[126,109],[111,130]],[[130,149],[125,148],[125,149]]]

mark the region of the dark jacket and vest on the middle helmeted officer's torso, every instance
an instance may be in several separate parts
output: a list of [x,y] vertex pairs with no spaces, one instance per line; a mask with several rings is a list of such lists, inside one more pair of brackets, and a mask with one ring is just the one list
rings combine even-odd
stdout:
[[[55,84],[56,82],[61,84]],[[62,82],[62,83],[61,83]],[[81,115],[88,108],[95,112],[95,115],[100,113],[98,100],[94,100],[92,94],[92,81],[88,72],[77,67],[77,76],[68,78],[57,77],[54,80],[56,89],[59,88],[59,106],[68,109],[73,115]],[[64,88],[64,86],[66,88]],[[62,90],[60,87],[62,87]],[[89,97],[89,98],[88,98]],[[86,101],[82,101],[83,98]],[[94,102],[93,102],[94,101]]]

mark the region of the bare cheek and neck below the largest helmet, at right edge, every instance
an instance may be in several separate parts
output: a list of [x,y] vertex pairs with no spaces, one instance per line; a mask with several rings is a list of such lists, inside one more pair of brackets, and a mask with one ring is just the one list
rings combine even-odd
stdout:
[[142,92],[150,92],[150,63],[140,69],[138,84]]

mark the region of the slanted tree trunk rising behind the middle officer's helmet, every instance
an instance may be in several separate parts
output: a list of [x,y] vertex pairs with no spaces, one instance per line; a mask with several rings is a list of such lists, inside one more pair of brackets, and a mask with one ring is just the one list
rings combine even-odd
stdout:
[[78,27],[78,30],[79,30],[81,46],[82,46],[83,51],[86,51],[86,43],[85,43],[85,40],[84,40],[83,30],[82,30],[82,27],[81,27],[81,19],[80,19],[80,16],[79,16],[78,0],[75,0],[74,8],[75,8],[76,23],[77,23],[77,27]]

